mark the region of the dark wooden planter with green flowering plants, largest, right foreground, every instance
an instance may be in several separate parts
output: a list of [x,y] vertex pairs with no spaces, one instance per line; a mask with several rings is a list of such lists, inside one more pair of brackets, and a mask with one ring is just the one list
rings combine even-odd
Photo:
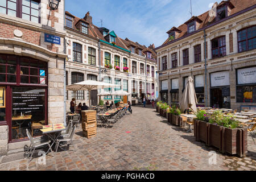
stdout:
[[233,114],[215,111],[208,115],[204,110],[198,111],[194,135],[197,141],[217,147],[222,153],[243,156],[247,152],[247,129],[239,126]]

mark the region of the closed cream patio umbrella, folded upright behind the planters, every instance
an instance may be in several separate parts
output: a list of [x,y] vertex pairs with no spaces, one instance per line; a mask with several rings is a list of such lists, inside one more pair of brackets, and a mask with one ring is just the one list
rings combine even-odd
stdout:
[[190,107],[192,111],[197,113],[196,104],[197,104],[197,98],[196,98],[195,88],[193,85],[193,79],[191,76],[189,76],[187,85],[184,89],[184,92],[182,94],[182,97],[179,103],[181,112],[183,112],[185,109]]

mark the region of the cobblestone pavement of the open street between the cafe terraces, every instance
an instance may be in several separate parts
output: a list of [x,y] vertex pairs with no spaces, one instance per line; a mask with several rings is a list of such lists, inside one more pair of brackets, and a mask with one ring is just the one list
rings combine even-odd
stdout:
[[[150,107],[150,106],[148,106]],[[244,158],[217,152],[217,164],[209,164],[207,147],[196,142],[191,133],[171,126],[155,109],[133,107],[109,129],[97,128],[97,136],[82,137],[76,131],[69,151],[48,154],[46,164],[35,158],[0,164],[0,170],[256,170],[256,145],[248,136],[248,154]],[[76,151],[75,151],[76,150]]]

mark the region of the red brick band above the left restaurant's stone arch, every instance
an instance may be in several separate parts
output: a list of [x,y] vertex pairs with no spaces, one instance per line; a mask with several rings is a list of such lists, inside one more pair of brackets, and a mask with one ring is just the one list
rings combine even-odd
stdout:
[[0,37],[1,38],[14,38],[13,31],[20,30],[23,33],[22,40],[40,46],[41,32],[28,30],[22,27],[16,27],[11,24],[0,23]]

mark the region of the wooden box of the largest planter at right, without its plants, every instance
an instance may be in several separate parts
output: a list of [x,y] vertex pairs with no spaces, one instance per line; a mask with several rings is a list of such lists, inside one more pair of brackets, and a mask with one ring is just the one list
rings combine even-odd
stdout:
[[229,129],[204,121],[194,122],[194,136],[207,146],[217,147],[222,153],[237,154],[242,157],[247,152],[247,129]]

